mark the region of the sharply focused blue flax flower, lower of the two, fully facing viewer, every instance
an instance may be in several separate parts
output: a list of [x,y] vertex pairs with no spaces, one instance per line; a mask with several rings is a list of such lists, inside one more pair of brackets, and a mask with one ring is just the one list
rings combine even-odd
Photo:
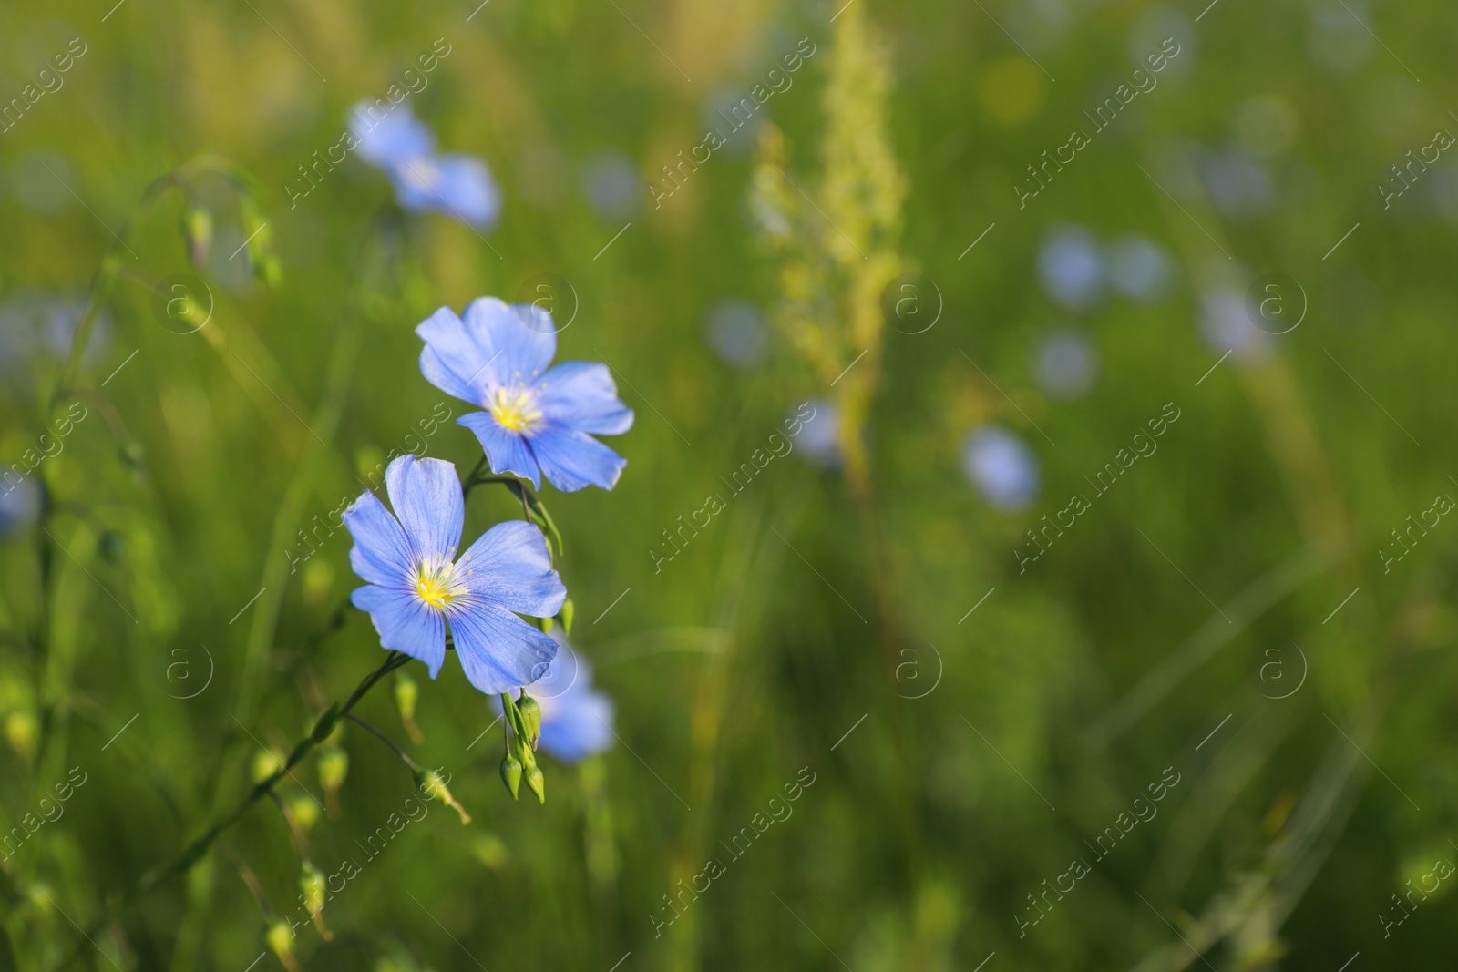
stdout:
[[436,678],[449,622],[471,685],[499,694],[539,679],[557,643],[512,612],[550,618],[567,596],[541,530],[497,523],[456,560],[465,497],[455,466],[399,456],[385,488],[394,516],[373,493],[344,513],[354,536],[350,565],[369,581],[350,600],[369,614],[381,644],[424,662]]

